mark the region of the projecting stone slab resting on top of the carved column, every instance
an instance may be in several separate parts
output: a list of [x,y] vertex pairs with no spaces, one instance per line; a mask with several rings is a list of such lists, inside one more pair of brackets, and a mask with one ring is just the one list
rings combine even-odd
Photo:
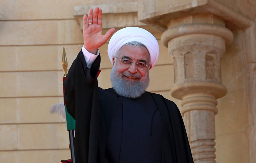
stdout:
[[213,14],[225,20],[226,27],[231,31],[253,26],[253,20],[230,9],[216,0],[138,0],[138,19],[165,31],[171,19],[177,19],[189,15]]

